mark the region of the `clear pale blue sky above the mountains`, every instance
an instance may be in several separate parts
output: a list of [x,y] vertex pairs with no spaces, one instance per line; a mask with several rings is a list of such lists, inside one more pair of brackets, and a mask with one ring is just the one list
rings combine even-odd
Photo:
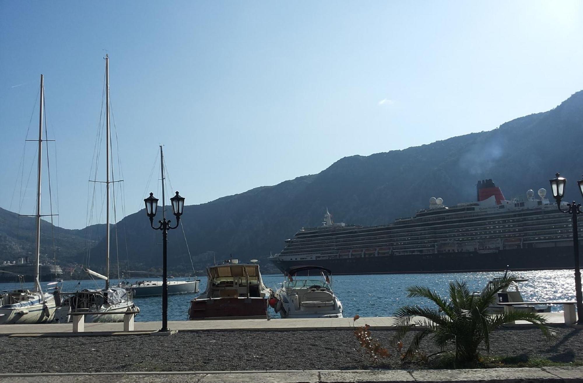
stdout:
[[160,143],[188,205],[552,109],[583,89],[583,3],[0,0],[1,207],[43,73],[58,223],[85,226],[104,49],[130,214]]

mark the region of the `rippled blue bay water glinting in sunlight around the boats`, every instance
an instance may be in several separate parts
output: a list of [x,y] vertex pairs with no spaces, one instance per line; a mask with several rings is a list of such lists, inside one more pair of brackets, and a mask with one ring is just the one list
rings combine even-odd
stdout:
[[[344,316],[352,317],[386,317],[406,304],[429,304],[420,299],[406,297],[405,289],[412,285],[428,286],[440,295],[447,296],[449,281],[466,281],[470,290],[482,290],[490,279],[502,276],[501,272],[475,272],[456,274],[394,274],[394,275],[339,275],[333,276],[334,292],[344,306]],[[575,281],[573,270],[553,271],[523,271],[515,275],[529,278],[528,282],[520,283],[519,288],[525,301],[543,300],[575,300]],[[201,292],[206,288],[206,276],[200,277]],[[264,283],[274,288],[283,282],[282,275],[263,275]],[[117,284],[117,280],[111,280]],[[16,288],[15,283],[0,283],[0,290]],[[27,284],[33,288],[32,283]],[[64,291],[75,291],[84,288],[103,288],[103,281],[65,281]],[[190,300],[198,294],[168,296],[168,320],[181,321],[188,318]],[[141,312],[136,321],[161,320],[161,297],[145,297],[135,299]],[[553,307],[553,311],[562,307]],[[272,312],[272,317],[279,317]]]

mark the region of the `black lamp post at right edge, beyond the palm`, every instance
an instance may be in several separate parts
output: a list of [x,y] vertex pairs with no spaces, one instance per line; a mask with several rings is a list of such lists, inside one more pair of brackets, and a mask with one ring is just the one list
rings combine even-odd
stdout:
[[[571,214],[571,220],[573,222],[573,251],[575,256],[575,297],[577,298],[577,324],[583,324],[583,293],[581,293],[581,270],[579,268],[579,236],[577,231],[577,215],[581,214],[580,207],[581,204],[575,203],[567,204],[568,210],[564,211],[561,209],[561,200],[563,199],[565,193],[565,186],[567,186],[567,179],[561,177],[559,173],[555,175],[555,178],[550,180],[550,188],[553,191],[553,197],[557,200],[557,207],[559,211]],[[579,186],[579,191],[581,191],[581,196],[583,196],[583,179],[577,181],[577,186]]]

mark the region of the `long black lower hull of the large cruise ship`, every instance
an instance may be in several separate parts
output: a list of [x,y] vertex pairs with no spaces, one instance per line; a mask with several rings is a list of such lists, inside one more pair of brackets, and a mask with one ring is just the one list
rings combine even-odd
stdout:
[[467,251],[437,254],[403,254],[377,257],[329,258],[282,261],[270,258],[282,272],[300,265],[321,266],[335,275],[417,274],[574,268],[573,246],[498,250],[492,253]]

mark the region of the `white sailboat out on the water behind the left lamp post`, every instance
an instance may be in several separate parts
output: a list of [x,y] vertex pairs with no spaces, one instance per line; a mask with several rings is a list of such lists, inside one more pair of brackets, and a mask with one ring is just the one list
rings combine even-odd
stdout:
[[[162,218],[166,218],[166,208],[164,203],[164,152],[160,145],[160,172],[162,180]],[[136,274],[152,274],[143,271],[128,271]],[[198,285],[201,283],[200,279],[187,279],[186,281],[168,281],[168,294],[188,294],[198,293]],[[122,283],[126,290],[134,293],[134,297],[147,297],[162,295],[163,281],[136,281],[135,283]]]

